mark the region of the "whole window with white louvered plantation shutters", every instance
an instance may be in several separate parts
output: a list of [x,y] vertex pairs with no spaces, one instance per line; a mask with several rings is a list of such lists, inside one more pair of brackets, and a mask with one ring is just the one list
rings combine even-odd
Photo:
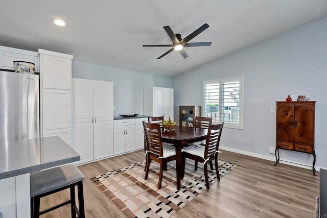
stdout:
[[213,123],[243,129],[243,77],[203,81],[202,116]]

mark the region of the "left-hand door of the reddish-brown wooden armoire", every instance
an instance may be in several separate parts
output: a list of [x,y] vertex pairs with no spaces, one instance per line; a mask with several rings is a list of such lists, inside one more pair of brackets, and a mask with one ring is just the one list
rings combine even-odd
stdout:
[[277,140],[293,141],[294,127],[294,106],[293,105],[278,105],[277,106]]

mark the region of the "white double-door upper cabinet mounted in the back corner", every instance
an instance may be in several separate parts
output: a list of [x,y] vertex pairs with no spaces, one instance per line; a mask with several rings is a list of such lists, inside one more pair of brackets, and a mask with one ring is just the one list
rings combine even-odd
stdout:
[[169,116],[174,118],[174,89],[163,87],[145,87],[143,90],[143,110],[145,115]]

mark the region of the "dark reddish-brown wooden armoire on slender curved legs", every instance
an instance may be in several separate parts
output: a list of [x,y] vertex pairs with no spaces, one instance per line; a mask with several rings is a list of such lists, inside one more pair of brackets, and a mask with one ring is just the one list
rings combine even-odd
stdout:
[[[279,149],[312,154],[315,174],[315,101],[276,102],[276,163]],[[278,157],[277,157],[278,154]]]

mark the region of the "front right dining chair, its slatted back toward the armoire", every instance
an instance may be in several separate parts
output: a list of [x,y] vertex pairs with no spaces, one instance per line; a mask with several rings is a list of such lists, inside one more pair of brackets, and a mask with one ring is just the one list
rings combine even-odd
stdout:
[[220,181],[220,176],[218,171],[218,153],[219,153],[218,148],[219,148],[219,141],[223,130],[223,126],[224,123],[209,125],[205,146],[192,145],[189,147],[185,147],[183,149],[184,169],[185,169],[186,158],[203,163],[206,188],[210,188],[207,163],[212,162],[213,160],[215,160],[217,179],[218,181]]

